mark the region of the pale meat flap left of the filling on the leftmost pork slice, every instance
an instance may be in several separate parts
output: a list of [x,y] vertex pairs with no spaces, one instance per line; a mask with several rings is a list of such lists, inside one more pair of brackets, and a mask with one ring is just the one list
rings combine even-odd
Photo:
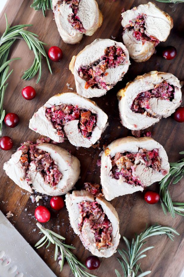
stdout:
[[3,169],[5,170],[7,176],[15,182],[20,188],[25,189],[26,191],[33,193],[33,189],[30,183],[26,180],[26,170],[23,168],[20,157],[22,156],[23,151],[18,150],[15,152],[11,158],[4,163]]

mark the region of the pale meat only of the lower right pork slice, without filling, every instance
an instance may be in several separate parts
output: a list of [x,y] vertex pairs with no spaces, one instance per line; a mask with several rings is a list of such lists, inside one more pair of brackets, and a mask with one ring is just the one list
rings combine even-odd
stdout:
[[111,169],[111,158],[116,153],[137,153],[139,148],[151,151],[158,149],[158,155],[161,158],[161,168],[169,172],[169,162],[166,151],[163,146],[149,137],[134,138],[126,137],[113,141],[101,156],[101,185],[104,196],[107,200],[112,200],[117,196],[134,193],[136,191],[143,191],[144,187],[151,185],[153,182],[161,181],[164,175],[161,171],[154,171],[152,168],[145,166],[145,164],[137,163],[134,166],[135,171],[132,171],[132,176],[137,177],[142,186],[134,186],[125,182],[125,178],[120,175],[117,180],[113,178]]

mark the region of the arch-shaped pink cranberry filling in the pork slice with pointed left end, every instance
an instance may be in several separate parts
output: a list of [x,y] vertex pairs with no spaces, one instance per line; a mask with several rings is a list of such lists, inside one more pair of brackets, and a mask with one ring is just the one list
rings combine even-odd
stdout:
[[88,110],[81,110],[78,106],[59,105],[46,109],[46,117],[52,122],[57,130],[57,135],[63,138],[63,126],[72,120],[79,120],[79,130],[84,138],[90,139],[93,127],[96,124],[96,116]]

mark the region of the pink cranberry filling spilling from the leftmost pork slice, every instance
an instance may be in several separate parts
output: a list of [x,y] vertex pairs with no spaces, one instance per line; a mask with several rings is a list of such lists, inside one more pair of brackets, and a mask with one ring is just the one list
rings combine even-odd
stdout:
[[45,184],[49,184],[51,187],[56,188],[58,182],[62,178],[62,174],[59,171],[58,166],[55,164],[53,159],[50,157],[50,154],[36,148],[39,143],[49,142],[50,139],[37,139],[37,143],[32,141],[24,142],[18,150],[22,150],[23,154],[20,157],[21,164],[26,170],[26,181],[30,182],[28,178],[29,167],[31,163],[34,163],[37,171],[42,173],[42,176],[45,179]]

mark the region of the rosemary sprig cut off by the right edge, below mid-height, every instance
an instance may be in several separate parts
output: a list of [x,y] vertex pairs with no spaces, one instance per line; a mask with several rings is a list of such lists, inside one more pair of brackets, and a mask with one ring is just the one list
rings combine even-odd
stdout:
[[[180,154],[184,154],[180,152]],[[175,217],[175,213],[184,216],[184,203],[182,202],[172,202],[169,186],[171,184],[175,185],[184,176],[184,158],[176,163],[170,163],[169,173],[162,179],[160,184],[160,200],[164,213],[166,214],[166,209],[171,213],[172,217]]]

